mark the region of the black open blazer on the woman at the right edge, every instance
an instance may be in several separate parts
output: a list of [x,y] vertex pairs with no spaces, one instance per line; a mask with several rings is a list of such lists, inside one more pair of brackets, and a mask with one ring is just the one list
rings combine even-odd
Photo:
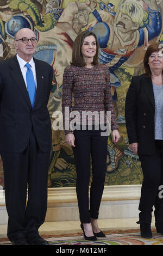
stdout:
[[139,154],[155,154],[154,114],[151,77],[133,77],[126,96],[125,117],[129,143],[139,143]]

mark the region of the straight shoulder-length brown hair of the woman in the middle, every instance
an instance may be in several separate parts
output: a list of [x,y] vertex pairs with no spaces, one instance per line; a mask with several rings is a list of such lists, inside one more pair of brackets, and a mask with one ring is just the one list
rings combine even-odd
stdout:
[[90,32],[90,31],[83,31],[80,34],[77,35],[77,38],[74,40],[74,44],[73,44],[73,48],[72,48],[72,61],[71,64],[75,65],[75,66],[85,66],[86,63],[83,59],[82,56],[82,45],[84,42],[84,39],[86,38],[86,36],[94,36],[95,41],[96,41],[96,54],[93,57],[93,65],[98,65],[98,54],[99,54],[99,44],[97,41],[97,37],[94,33]]

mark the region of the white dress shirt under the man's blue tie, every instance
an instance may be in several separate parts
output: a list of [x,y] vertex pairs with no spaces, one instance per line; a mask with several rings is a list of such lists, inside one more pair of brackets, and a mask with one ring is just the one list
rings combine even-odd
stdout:
[[[22,76],[24,78],[24,82],[26,83],[26,88],[27,88],[27,81],[26,81],[27,66],[25,66],[27,62],[25,62],[25,60],[23,60],[20,56],[18,56],[18,54],[16,54],[16,57],[18,60],[18,64],[20,65],[20,69],[22,71]],[[36,69],[35,69],[35,63],[34,63],[33,58],[28,63],[30,64],[30,68],[32,69],[34,80],[35,80],[35,85],[37,88]]]

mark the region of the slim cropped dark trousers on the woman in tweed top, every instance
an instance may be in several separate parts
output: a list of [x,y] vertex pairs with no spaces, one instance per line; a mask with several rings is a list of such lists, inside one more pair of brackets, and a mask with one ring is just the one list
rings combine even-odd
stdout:
[[[100,130],[74,131],[75,145],[73,148],[76,163],[79,217],[81,223],[90,223],[91,218],[98,218],[99,206],[104,190],[106,173],[107,136],[101,136]],[[92,182],[89,182],[92,160]]]

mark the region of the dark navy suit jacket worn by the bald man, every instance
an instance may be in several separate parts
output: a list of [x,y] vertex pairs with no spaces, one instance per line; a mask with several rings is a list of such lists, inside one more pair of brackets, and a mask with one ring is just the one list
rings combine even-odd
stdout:
[[42,151],[52,145],[51,120],[47,109],[52,87],[53,68],[34,59],[37,92],[34,106],[30,103],[17,57],[0,62],[0,150],[22,152],[29,142],[32,126]]

